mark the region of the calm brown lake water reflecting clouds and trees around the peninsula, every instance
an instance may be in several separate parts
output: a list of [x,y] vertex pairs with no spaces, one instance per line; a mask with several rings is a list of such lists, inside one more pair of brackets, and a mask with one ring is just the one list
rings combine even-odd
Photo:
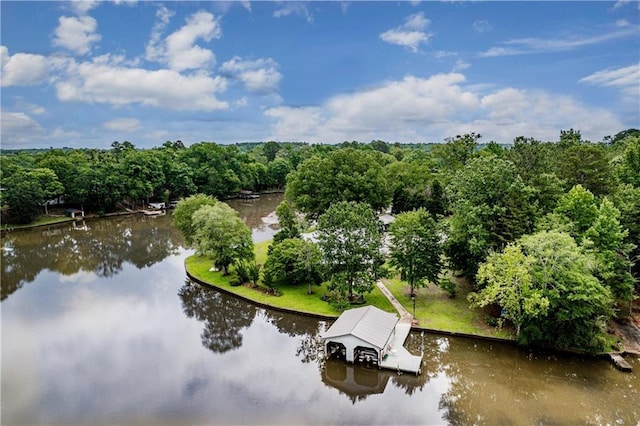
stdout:
[[[270,238],[280,196],[231,204]],[[635,372],[412,334],[421,376],[323,359],[328,324],[185,279],[170,216],[2,237],[2,414],[14,424],[638,424]]]

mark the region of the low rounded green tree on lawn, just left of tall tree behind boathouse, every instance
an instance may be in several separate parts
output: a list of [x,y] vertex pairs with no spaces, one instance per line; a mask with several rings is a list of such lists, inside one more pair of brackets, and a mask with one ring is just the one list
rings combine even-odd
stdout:
[[273,247],[264,264],[264,277],[267,285],[322,283],[322,252],[312,242],[299,238],[288,238]]

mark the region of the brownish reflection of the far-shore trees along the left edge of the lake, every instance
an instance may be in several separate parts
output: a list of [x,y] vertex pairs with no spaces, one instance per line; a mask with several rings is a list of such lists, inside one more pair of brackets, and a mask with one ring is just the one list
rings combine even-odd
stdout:
[[171,216],[124,216],[10,232],[2,236],[2,293],[32,282],[43,270],[111,277],[130,263],[150,267],[174,255],[182,236]]

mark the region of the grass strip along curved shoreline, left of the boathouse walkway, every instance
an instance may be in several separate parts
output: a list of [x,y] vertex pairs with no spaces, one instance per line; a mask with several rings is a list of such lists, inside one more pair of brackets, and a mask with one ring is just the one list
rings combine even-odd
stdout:
[[[267,258],[267,249],[271,241],[265,241],[255,245],[256,263],[264,264]],[[251,286],[232,286],[231,282],[235,279],[233,269],[228,276],[223,276],[222,272],[212,272],[211,261],[201,256],[190,256],[185,260],[185,266],[189,273],[201,281],[211,284],[214,287],[223,288],[226,291],[237,294],[249,300],[273,306],[276,308],[291,309],[299,312],[310,314],[319,314],[327,316],[338,316],[340,311],[336,310],[329,303],[322,300],[322,296],[327,292],[327,284],[312,287],[313,294],[307,294],[308,286],[281,286],[281,296],[273,296],[268,294],[266,287],[252,288]],[[370,305],[376,306],[387,312],[395,312],[391,303],[378,290],[366,296]]]

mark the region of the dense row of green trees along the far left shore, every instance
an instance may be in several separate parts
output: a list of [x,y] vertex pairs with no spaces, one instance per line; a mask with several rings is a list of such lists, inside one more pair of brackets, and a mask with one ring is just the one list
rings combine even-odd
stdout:
[[[275,150],[274,150],[275,148]],[[166,142],[137,149],[113,142],[111,149],[3,151],[0,196],[14,223],[46,213],[48,202],[106,213],[149,201],[178,200],[196,193],[224,198],[239,190],[284,188],[287,174],[312,148],[303,144],[246,146]]]

